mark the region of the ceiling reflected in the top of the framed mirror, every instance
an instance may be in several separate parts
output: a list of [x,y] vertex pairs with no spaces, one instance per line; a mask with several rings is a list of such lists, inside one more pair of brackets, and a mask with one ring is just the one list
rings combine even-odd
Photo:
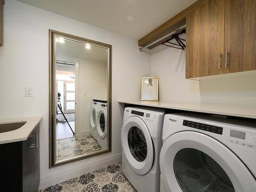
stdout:
[[106,62],[107,51],[105,48],[92,45],[90,49],[86,49],[86,44],[68,39],[65,39],[64,43],[57,42],[56,46],[57,59],[60,60],[62,57],[75,57]]

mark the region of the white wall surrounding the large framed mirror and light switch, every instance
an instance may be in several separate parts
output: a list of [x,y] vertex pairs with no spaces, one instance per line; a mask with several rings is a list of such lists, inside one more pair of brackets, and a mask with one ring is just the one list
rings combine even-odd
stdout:
[[[49,169],[49,29],[113,46],[112,152]],[[138,51],[137,40],[87,25],[15,0],[4,6],[4,46],[0,47],[0,118],[42,116],[40,123],[40,187],[87,172],[99,163],[120,159],[122,107],[119,99],[140,98],[141,76],[150,74],[150,55]],[[25,97],[25,87],[34,97]]]

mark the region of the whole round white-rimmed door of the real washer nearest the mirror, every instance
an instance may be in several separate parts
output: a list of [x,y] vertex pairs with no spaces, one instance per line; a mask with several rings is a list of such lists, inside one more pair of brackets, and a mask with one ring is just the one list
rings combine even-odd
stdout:
[[121,143],[124,157],[138,175],[147,174],[154,160],[154,148],[150,132],[139,117],[130,117],[123,123]]

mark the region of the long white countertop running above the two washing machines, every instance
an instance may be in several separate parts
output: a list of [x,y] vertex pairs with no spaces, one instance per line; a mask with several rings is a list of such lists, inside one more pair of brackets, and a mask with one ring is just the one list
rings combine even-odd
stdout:
[[256,119],[256,106],[205,104],[205,103],[179,103],[163,101],[118,101],[119,103],[136,104],[142,106],[153,106],[156,108],[193,111],[228,115],[235,117],[246,117]]

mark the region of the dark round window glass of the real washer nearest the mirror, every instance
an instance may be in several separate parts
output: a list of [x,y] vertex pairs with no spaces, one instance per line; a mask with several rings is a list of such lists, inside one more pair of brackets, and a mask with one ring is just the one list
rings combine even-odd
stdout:
[[130,128],[128,132],[128,144],[133,157],[142,162],[146,159],[147,146],[144,134],[136,126]]

